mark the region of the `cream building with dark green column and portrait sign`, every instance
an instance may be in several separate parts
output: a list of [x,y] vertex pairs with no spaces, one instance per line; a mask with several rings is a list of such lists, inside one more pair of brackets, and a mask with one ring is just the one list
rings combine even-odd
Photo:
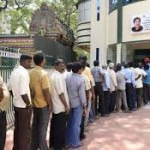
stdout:
[[[149,6],[150,0],[78,1],[77,43],[90,51],[91,65],[96,59],[105,64],[150,56]],[[135,20],[141,29],[133,29]]]

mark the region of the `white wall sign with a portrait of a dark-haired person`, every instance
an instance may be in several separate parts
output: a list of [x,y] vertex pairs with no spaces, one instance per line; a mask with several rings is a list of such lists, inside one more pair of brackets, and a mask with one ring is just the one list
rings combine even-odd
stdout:
[[131,33],[148,33],[150,32],[150,14],[135,15],[131,20]]

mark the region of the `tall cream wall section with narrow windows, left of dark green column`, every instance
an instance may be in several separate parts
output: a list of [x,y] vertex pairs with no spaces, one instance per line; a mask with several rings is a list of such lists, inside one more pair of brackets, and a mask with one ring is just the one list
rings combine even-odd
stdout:
[[99,61],[104,64],[107,57],[107,0],[101,0],[100,3],[100,20],[97,20],[97,1],[92,1],[91,17],[91,53],[90,63],[96,60],[96,51],[99,49]]

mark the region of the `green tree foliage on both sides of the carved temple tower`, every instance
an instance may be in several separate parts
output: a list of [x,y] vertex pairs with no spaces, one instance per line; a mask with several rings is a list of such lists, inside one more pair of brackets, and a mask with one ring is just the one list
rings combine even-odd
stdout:
[[[29,33],[29,24],[32,14],[35,9],[40,7],[42,2],[51,6],[58,18],[76,32],[77,10],[75,4],[77,0],[17,0],[17,2],[20,2],[19,4],[21,7],[15,4],[15,0],[9,0],[7,11],[5,11],[5,15],[11,17],[12,34]],[[3,13],[0,13],[0,17],[2,14]]]

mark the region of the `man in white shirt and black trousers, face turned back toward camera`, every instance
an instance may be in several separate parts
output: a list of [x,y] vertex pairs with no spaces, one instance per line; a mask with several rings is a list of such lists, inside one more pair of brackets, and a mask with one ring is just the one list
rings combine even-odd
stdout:
[[62,59],[55,61],[55,71],[51,75],[53,83],[52,120],[50,130],[50,147],[62,150],[64,146],[66,116],[69,113],[69,98],[63,76],[65,64]]

